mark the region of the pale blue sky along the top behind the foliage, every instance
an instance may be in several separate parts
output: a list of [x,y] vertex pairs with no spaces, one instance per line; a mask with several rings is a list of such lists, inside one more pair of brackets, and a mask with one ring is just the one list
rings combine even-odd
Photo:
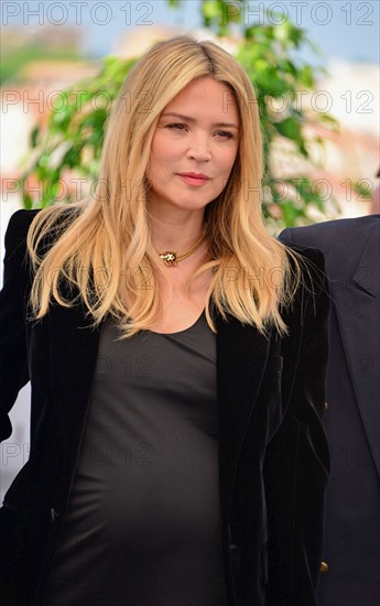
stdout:
[[[4,26],[22,28],[70,23],[80,30],[84,53],[99,58],[112,53],[118,36],[142,24],[200,26],[199,4],[200,0],[182,0],[181,9],[171,10],[166,0],[3,1],[1,20]],[[292,19],[323,52],[321,57],[303,47],[303,58],[312,64],[332,58],[379,63],[379,6],[378,0],[259,0],[241,2],[240,9],[231,1],[228,10],[240,10],[246,24],[268,23],[267,8],[278,13],[273,24]]]

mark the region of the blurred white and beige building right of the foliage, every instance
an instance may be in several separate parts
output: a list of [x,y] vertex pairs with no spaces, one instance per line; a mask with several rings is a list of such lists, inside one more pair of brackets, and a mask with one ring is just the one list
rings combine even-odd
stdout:
[[[315,91],[297,91],[297,107],[307,117],[304,134],[310,141],[319,138],[323,144],[308,144],[311,162],[279,139],[272,149],[273,171],[279,178],[305,175],[321,183],[330,218],[358,217],[370,212],[370,202],[355,191],[355,184],[374,188],[380,165],[379,71],[374,64],[344,61],[332,61],[326,71]],[[285,118],[286,104],[280,100],[278,107],[279,119]],[[337,120],[337,128],[329,117]],[[313,216],[324,219],[317,210]]]

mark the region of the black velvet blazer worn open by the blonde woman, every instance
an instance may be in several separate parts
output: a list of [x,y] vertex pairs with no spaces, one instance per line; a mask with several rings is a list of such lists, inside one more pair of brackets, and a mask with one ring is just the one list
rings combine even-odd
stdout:
[[[42,321],[26,320],[25,236],[37,212],[11,217],[0,293],[0,439],[11,434],[8,412],[19,390],[32,383],[30,458],[0,509],[7,545],[0,578],[9,606],[43,604],[101,332],[88,328],[82,303],[70,310],[54,303]],[[289,337],[280,339],[273,331],[265,338],[216,314],[220,507],[231,606],[316,604],[329,466],[319,419],[328,295],[321,252],[307,249],[304,256],[315,268],[313,282],[305,273],[285,314]]]

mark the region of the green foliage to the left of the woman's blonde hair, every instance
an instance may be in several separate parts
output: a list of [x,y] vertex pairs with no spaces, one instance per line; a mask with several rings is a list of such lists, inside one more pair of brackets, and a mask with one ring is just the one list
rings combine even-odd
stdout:
[[[20,180],[25,208],[33,207],[31,177],[39,183],[37,204],[42,208],[57,201],[72,202],[74,194],[83,192],[82,185],[88,190],[96,181],[105,122],[134,63],[107,56],[97,77],[86,78],[75,89],[62,90],[55,97],[47,129],[36,125],[30,133],[32,152],[23,160]],[[72,175],[68,180],[67,174]]]

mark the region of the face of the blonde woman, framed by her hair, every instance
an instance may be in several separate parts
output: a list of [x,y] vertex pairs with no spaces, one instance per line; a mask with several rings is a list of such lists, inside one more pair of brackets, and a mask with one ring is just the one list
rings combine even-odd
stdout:
[[188,84],[160,116],[146,167],[149,202],[161,210],[204,209],[227,184],[239,128],[227,85],[210,77]]

